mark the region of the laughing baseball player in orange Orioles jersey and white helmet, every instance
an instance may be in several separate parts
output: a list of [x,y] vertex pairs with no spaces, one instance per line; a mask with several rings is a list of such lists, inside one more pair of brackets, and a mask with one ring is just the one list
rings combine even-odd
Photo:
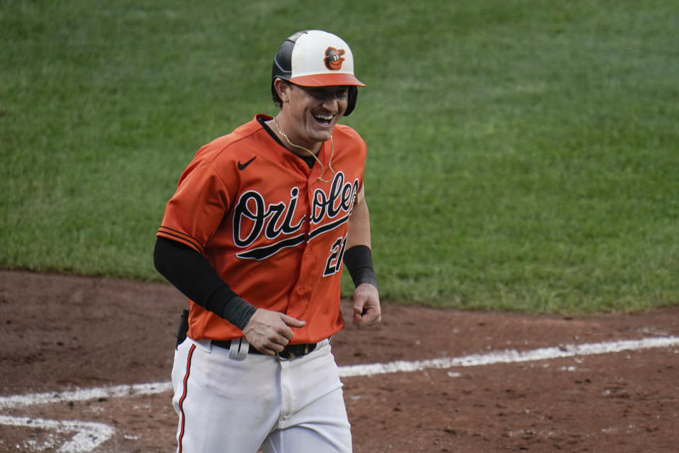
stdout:
[[330,337],[340,274],[354,323],[381,321],[354,58],[320,30],[280,45],[275,117],[204,145],[156,234],[156,269],[189,300],[172,371],[178,452],[351,452]]

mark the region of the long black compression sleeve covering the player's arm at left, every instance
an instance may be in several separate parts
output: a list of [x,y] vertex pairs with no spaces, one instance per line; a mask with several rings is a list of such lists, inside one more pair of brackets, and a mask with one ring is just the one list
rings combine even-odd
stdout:
[[156,239],[153,263],[158,273],[193,302],[243,330],[257,310],[221,280],[209,261],[171,239]]

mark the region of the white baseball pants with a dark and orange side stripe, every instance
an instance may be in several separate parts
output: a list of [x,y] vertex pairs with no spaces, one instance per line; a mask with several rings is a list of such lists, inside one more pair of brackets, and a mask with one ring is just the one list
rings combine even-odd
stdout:
[[308,355],[244,360],[187,338],[175,351],[178,453],[352,452],[342,383],[324,340]]

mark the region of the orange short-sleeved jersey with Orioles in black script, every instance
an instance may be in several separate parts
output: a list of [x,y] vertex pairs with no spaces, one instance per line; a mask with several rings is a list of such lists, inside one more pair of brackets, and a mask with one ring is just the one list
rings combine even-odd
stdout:
[[[156,236],[202,253],[236,294],[257,308],[306,321],[291,344],[315,343],[344,326],[340,275],[349,215],[363,184],[366,144],[336,125],[332,183],[320,166],[282,147],[257,115],[197,151],[168,201]],[[324,142],[318,159],[331,154]],[[239,328],[190,301],[195,340],[242,337]]]

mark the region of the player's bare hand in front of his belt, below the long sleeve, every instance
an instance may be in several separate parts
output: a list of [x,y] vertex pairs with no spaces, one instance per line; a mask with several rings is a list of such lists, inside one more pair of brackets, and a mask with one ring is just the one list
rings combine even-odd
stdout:
[[306,321],[299,321],[278,311],[257,309],[243,329],[243,333],[248,343],[262,354],[276,355],[292,339],[294,335],[292,329],[304,326]]

